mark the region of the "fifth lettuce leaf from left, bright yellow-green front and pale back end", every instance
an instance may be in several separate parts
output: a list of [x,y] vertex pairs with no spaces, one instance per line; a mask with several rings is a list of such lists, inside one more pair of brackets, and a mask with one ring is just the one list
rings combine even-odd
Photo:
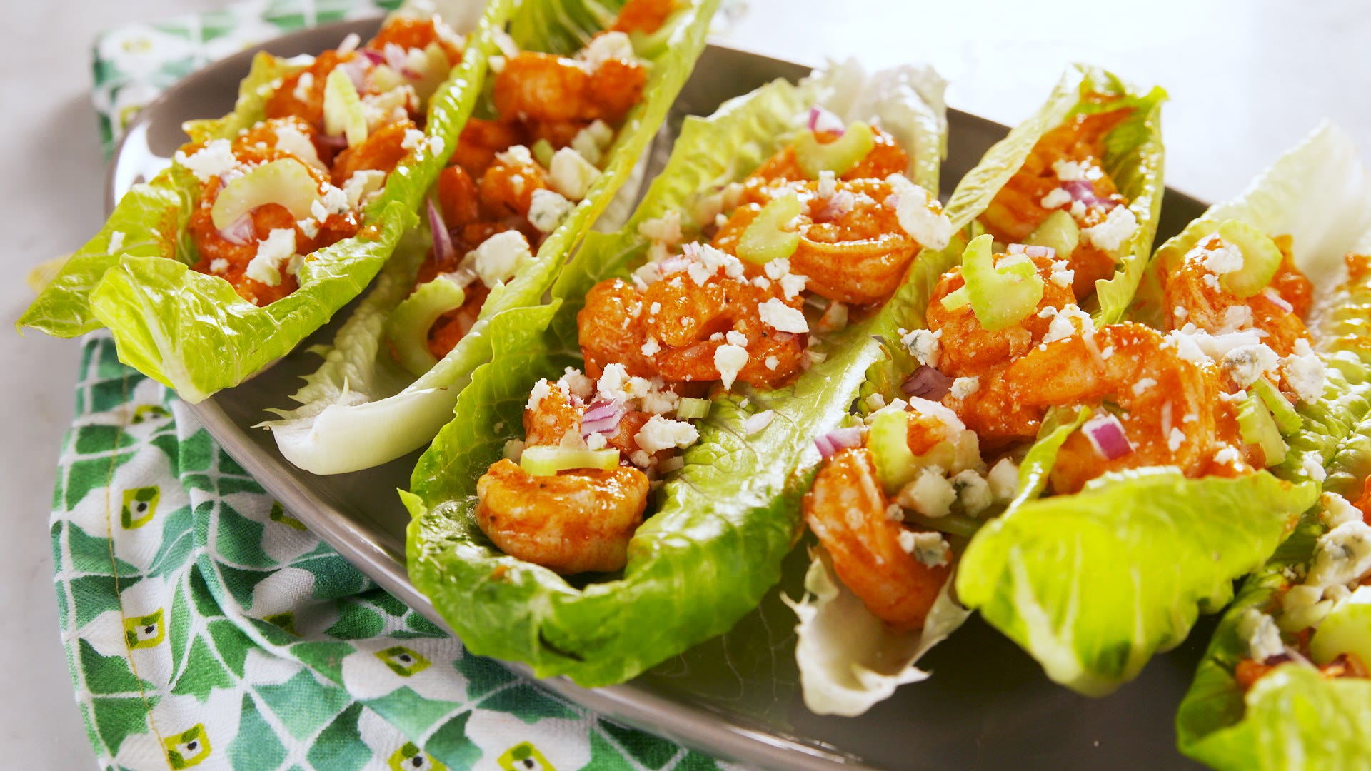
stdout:
[[[1228,220],[1293,235],[1294,265],[1328,287],[1367,214],[1352,141],[1322,128],[1163,244],[1131,314],[1160,325],[1160,273]],[[1316,499],[1319,469],[1352,423],[1339,394],[1360,380],[1318,355],[1327,362],[1323,398],[1315,391],[1300,405],[1282,465],[1235,480],[1102,477],[1075,499],[1024,502],[972,539],[958,597],[1076,691],[1101,696],[1137,676],[1153,653],[1185,639],[1200,612],[1226,605],[1231,582],[1259,568]]]

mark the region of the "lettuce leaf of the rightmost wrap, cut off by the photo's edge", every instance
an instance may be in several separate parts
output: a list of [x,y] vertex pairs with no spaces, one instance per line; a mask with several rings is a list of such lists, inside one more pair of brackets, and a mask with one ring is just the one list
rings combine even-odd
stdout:
[[[1371,254],[1371,239],[1363,237],[1352,251]],[[1259,612],[1275,615],[1276,608],[1290,609],[1283,593],[1301,583],[1313,567],[1319,539],[1330,531],[1330,509],[1357,499],[1371,475],[1371,384],[1367,383],[1371,340],[1363,331],[1368,303],[1371,285],[1363,276],[1334,294],[1320,320],[1327,350],[1333,351],[1330,366],[1339,375],[1322,409],[1311,416],[1322,428],[1313,458],[1327,458],[1324,495],[1271,560],[1243,582],[1176,715],[1180,750],[1215,768],[1371,764],[1371,680],[1326,679],[1307,660],[1276,664],[1246,693],[1237,678],[1238,665],[1252,659],[1249,637],[1242,634],[1243,619]],[[1331,455],[1330,439],[1337,439]],[[1294,462],[1305,461],[1297,457],[1287,465]],[[1324,609],[1323,617],[1331,617],[1339,606],[1345,610],[1346,602],[1344,598],[1331,610]],[[1298,635],[1297,627],[1302,626],[1304,621],[1297,621],[1281,628],[1282,637]],[[1352,634],[1371,641],[1366,615]]]

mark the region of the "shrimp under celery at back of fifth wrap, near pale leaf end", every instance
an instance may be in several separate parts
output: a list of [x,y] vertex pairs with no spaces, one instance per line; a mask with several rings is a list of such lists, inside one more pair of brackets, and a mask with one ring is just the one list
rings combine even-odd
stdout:
[[1294,351],[1297,340],[1308,340],[1304,316],[1312,305],[1313,284],[1294,266],[1290,237],[1275,239],[1281,248],[1281,268],[1271,284],[1242,299],[1224,288],[1205,261],[1223,240],[1211,236],[1191,250],[1165,277],[1167,324],[1179,328],[1194,324],[1205,332],[1231,332],[1252,328],[1265,332],[1261,342],[1279,355]]

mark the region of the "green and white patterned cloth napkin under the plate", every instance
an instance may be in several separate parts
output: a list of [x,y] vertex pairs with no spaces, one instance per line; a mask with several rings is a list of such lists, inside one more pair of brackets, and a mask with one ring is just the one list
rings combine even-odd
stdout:
[[[217,58],[391,5],[273,0],[110,30],[103,139]],[[52,551],[101,768],[729,768],[468,654],[274,502],[107,333],[84,340],[75,403]]]

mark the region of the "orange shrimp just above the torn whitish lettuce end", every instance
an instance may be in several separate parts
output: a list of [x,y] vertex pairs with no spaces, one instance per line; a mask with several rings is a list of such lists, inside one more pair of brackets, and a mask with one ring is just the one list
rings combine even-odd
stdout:
[[856,449],[824,464],[803,513],[843,584],[890,626],[917,630],[951,568],[925,565],[905,551],[899,541],[906,528],[886,514],[888,505],[871,451]]

